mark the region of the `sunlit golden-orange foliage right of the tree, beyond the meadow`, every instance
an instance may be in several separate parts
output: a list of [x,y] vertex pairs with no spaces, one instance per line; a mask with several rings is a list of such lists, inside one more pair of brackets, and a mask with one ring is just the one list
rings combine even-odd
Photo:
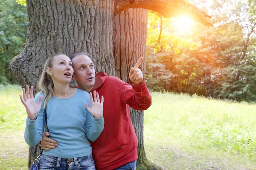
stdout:
[[[194,23],[189,33],[179,34],[179,23],[165,20],[163,32],[167,28],[169,32],[163,34],[160,43],[156,38],[159,33],[152,31],[160,29],[159,19],[148,15],[147,48],[154,52],[147,54],[147,85],[154,91],[256,101],[256,2],[220,0],[210,6],[209,2],[199,3],[204,11],[211,9],[215,28]],[[154,69],[155,65],[161,69]],[[166,79],[153,79],[153,75]]]

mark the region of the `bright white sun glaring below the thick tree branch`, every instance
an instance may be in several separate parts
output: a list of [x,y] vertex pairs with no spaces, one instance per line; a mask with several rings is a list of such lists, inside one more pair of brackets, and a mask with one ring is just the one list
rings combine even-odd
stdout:
[[192,33],[193,20],[189,17],[175,17],[174,25],[177,28],[178,34],[190,34]]

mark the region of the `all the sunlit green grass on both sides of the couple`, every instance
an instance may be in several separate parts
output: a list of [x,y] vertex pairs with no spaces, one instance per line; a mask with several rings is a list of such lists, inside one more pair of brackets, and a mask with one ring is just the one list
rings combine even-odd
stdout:
[[[0,85],[0,170],[25,170],[28,145],[21,88]],[[145,111],[149,160],[166,170],[256,169],[256,105],[152,93]]]

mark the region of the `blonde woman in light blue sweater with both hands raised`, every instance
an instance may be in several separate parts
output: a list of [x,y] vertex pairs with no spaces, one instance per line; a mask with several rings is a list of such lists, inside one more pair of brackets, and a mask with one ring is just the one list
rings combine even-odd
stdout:
[[[64,54],[47,59],[38,83],[41,90],[34,99],[33,86],[23,88],[20,100],[26,108],[25,141],[34,147],[41,140],[44,122],[52,139],[58,142],[54,150],[44,150],[39,169],[95,169],[90,141],[95,141],[104,127],[103,96],[92,94],[69,83],[73,76],[72,62]],[[91,108],[89,107],[91,105]],[[47,120],[44,120],[46,109]],[[89,112],[90,113],[89,113]],[[89,141],[90,140],[90,141]]]

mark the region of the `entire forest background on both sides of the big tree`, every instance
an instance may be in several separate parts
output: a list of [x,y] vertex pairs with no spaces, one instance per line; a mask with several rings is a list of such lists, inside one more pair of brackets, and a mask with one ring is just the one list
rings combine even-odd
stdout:
[[[145,80],[152,91],[256,101],[256,1],[186,0],[214,27],[149,11]],[[24,0],[0,2],[0,84],[17,83],[9,62],[27,37]]]

